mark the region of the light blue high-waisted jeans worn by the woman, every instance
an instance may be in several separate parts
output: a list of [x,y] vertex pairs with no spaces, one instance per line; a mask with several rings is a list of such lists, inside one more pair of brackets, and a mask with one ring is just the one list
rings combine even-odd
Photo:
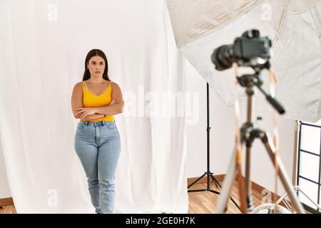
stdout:
[[88,190],[96,213],[113,213],[115,172],[121,138],[114,121],[80,121],[75,150],[86,172]]

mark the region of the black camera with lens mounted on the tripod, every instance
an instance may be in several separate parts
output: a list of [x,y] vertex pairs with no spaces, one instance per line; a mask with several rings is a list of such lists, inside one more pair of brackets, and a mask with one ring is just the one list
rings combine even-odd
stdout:
[[224,71],[237,63],[238,66],[265,66],[271,57],[272,41],[268,37],[260,37],[260,31],[245,31],[235,38],[233,44],[216,48],[212,54],[215,69]]

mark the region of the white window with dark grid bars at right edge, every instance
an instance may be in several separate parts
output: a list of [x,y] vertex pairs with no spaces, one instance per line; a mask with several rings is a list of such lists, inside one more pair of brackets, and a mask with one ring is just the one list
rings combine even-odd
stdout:
[[[313,202],[320,204],[321,175],[321,120],[317,123],[300,122],[297,154],[297,185]],[[300,201],[311,212],[320,212],[305,195]]]

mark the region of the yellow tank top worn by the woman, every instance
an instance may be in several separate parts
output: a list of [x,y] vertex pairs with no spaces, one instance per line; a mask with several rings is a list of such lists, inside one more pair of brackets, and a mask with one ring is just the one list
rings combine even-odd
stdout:
[[[95,95],[91,93],[91,91],[88,90],[87,85],[84,81],[83,83],[83,107],[101,107],[101,106],[107,106],[109,103],[111,103],[111,81],[108,84],[108,88],[104,93],[101,93],[101,95]],[[88,121],[113,121],[113,115],[106,115],[106,117],[101,117],[93,120]],[[81,121],[87,121],[87,120],[81,120]]]

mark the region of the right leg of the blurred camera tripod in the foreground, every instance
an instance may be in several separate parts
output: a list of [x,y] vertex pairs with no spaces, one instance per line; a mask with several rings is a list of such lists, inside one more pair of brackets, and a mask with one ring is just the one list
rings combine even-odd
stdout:
[[[272,141],[271,141],[269,135],[267,135],[267,133],[262,132],[262,134],[260,135],[260,138],[261,138],[263,144],[265,145],[265,148],[266,148],[268,154],[270,155],[270,159],[272,160],[272,164],[275,165],[275,163],[274,163],[274,161],[275,161],[275,147],[272,144]],[[299,212],[300,214],[305,214],[305,209],[302,207],[302,204],[300,203],[300,201],[297,199],[297,197],[295,195],[295,192],[294,192],[293,187],[290,182],[290,177],[287,176],[287,172],[285,170],[285,167],[283,166],[282,161],[280,160],[280,157],[277,157],[277,164],[279,166],[280,179],[281,179],[282,185],[283,185],[283,187],[285,187],[285,190],[289,194],[292,204],[295,206],[295,209],[297,209],[297,212]]]

